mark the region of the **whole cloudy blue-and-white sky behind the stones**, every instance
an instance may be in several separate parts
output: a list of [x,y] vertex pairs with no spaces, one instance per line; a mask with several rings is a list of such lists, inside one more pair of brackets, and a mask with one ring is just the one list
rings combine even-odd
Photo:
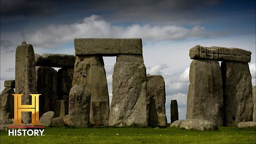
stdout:
[[[15,49],[22,41],[35,53],[75,54],[74,38],[142,38],[150,75],[163,75],[166,116],[178,101],[186,119],[189,49],[195,45],[251,51],[255,85],[255,1],[1,0],[1,91],[15,79]],[[110,101],[115,57],[104,57]]]

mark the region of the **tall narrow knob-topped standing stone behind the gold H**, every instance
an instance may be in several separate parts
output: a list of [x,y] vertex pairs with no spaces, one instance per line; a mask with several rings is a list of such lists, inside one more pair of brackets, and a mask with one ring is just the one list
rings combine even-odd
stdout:
[[[31,44],[19,45],[15,54],[15,93],[24,94],[22,105],[31,105],[31,96],[36,93],[35,54]],[[23,123],[31,123],[31,113],[21,115]]]

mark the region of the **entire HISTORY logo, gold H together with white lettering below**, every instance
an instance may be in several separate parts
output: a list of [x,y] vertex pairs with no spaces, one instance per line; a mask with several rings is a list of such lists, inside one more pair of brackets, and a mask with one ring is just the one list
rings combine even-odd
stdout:
[[[31,105],[22,105],[21,97],[23,94],[12,94],[14,96],[14,121],[12,126],[9,126],[9,136],[43,136],[44,126],[39,123],[39,95],[41,94],[30,94]],[[22,124],[21,112],[31,112],[31,123]],[[39,129],[40,128],[40,129]],[[10,130],[11,129],[11,130]]]

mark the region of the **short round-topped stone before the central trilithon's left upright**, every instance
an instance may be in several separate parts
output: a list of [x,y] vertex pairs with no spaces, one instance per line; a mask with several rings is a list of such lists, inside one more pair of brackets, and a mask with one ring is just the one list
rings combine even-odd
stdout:
[[90,118],[91,94],[84,86],[74,85],[69,93],[68,116],[71,126],[87,127]]

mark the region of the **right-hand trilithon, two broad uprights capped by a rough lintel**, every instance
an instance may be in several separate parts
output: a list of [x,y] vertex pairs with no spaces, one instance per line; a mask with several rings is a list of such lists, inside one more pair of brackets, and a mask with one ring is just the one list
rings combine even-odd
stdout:
[[[189,56],[193,60],[186,117],[226,126],[252,121],[252,78],[247,63],[251,52],[196,45]],[[218,61],[222,61],[221,67]]]

